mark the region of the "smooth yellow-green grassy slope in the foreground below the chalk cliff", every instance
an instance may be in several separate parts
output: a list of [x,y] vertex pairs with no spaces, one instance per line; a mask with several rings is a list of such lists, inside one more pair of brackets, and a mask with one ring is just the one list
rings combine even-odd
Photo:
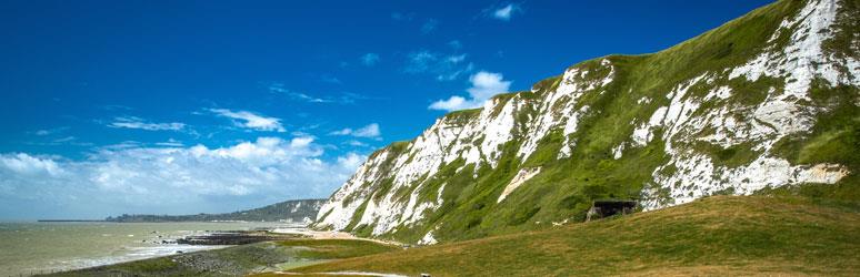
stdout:
[[296,269],[432,276],[860,274],[860,206],[712,196],[551,230],[413,248]]

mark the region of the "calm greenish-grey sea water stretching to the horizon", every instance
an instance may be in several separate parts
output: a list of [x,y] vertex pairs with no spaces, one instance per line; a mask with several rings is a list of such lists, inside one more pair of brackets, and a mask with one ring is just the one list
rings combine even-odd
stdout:
[[[69,270],[218,246],[159,244],[279,223],[0,223],[0,277]],[[160,237],[159,237],[160,236]]]

